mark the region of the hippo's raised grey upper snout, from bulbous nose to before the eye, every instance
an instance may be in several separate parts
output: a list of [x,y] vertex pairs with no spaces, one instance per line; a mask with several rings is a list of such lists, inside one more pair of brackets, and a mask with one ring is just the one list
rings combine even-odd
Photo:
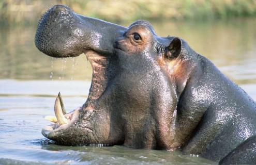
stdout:
[[39,51],[51,57],[75,57],[86,50],[101,55],[114,51],[114,42],[127,28],[85,17],[64,5],[42,15],[35,35]]

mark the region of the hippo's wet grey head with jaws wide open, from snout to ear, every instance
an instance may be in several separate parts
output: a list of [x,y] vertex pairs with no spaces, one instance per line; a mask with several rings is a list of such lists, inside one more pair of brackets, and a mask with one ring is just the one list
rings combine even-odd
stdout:
[[37,48],[60,58],[84,53],[93,76],[80,109],[65,114],[56,98],[55,124],[43,128],[43,136],[62,145],[170,149],[177,96],[186,83],[175,67],[183,43],[158,37],[146,21],[126,28],[53,6],[38,23]]

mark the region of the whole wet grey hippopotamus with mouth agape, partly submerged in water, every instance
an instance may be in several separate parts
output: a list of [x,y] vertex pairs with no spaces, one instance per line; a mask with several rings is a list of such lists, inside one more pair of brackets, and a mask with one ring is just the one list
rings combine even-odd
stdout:
[[67,113],[56,98],[56,117],[47,117],[54,123],[42,129],[56,144],[256,162],[255,102],[183,39],[159,37],[147,21],[124,27],[55,5],[42,15],[35,45],[57,58],[84,53],[93,69],[80,108]]

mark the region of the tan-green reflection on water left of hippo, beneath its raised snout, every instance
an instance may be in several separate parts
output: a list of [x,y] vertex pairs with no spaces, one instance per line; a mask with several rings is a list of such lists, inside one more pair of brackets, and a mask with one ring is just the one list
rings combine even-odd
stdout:
[[0,29],[0,78],[90,79],[85,56],[55,59],[44,56],[34,44],[36,27]]

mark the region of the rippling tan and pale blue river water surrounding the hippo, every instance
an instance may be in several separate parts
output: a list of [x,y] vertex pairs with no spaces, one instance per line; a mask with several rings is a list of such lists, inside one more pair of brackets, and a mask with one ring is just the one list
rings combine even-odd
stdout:
[[[0,164],[216,164],[178,151],[58,146],[44,138],[56,94],[67,110],[82,105],[92,68],[84,55],[62,60],[37,51],[35,25],[0,28]],[[188,41],[256,100],[256,19],[153,25],[160,36]]]

